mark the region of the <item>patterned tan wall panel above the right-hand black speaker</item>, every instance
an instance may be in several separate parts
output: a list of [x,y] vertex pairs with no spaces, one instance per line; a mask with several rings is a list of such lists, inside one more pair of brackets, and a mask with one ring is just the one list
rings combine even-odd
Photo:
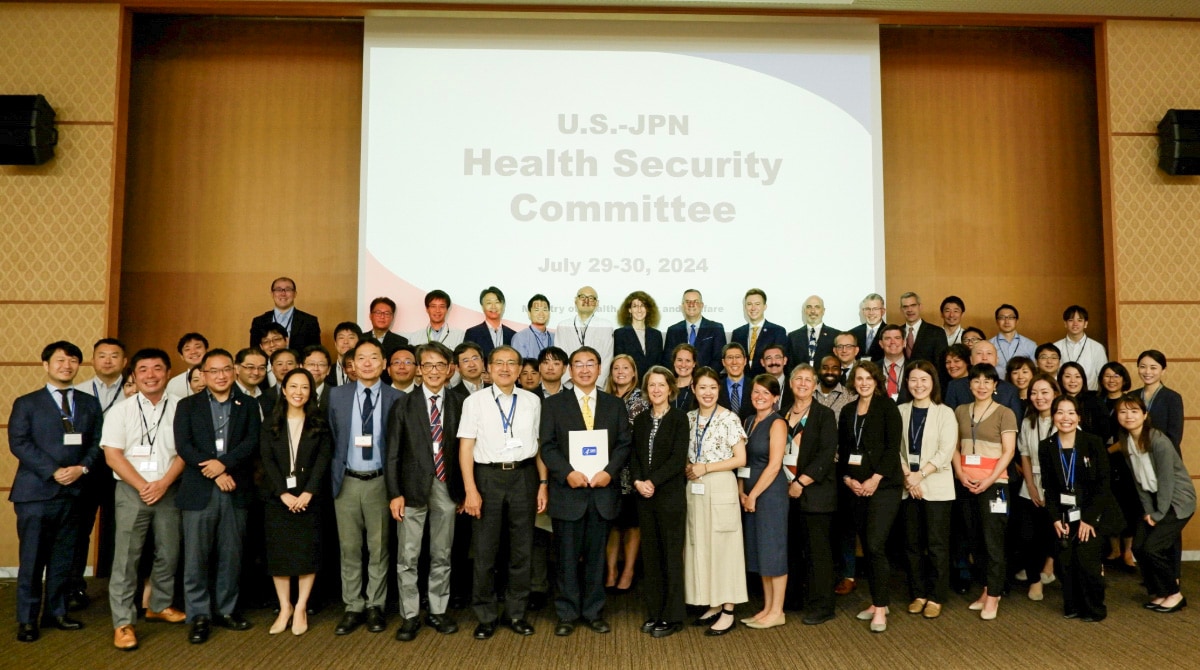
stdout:
[[1156,132],[1168,109],[1200,109],[1200,24],[1110,22],[1112,132]]

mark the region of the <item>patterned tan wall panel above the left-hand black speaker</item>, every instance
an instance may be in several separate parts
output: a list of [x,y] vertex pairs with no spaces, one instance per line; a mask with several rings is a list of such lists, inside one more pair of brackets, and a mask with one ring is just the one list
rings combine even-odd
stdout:
[[0,4],[0,92],[46,96],[60,121],[113,121],[118,5]]

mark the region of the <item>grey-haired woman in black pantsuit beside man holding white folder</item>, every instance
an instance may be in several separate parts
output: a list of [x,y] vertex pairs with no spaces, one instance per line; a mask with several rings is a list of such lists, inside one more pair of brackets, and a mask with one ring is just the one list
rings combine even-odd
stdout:
[[642,633],[666,638],[683,629],[683,543],[688,525],[684,486],[688,466],[688,414],[671,406],[674,375],[654,365],[642,378],[649,412],[634,419],[630,475],[638,493],[646,623]]

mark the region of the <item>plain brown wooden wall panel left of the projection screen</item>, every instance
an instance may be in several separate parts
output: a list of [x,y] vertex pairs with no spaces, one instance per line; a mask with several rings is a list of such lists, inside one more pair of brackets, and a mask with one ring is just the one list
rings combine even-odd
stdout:
[[[354,318],[362,25],[138,17],[120,331],[246,346],[270,282]],[[176,361],[179,363],[179,361]]]

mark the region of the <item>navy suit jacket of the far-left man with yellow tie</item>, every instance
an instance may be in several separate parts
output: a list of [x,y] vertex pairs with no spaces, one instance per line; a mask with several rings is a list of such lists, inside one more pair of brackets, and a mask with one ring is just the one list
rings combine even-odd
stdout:
[[74,431],[83,436],[82,443],[73,445],[62,443],[66,435],[62,409],[44,385],[12,403],[8,448],[17,456],[17,474],[8,492],[10,501],[41,502],[59,496],[78,496],[89,477],[103,475],[91,472],[70,486],[54,480],[54,471],[60,467],[82,465],[91,469],[103,461],[100,433],[104,415],[100,401],[79,390],[72,391],[71,396],[74,400]]

